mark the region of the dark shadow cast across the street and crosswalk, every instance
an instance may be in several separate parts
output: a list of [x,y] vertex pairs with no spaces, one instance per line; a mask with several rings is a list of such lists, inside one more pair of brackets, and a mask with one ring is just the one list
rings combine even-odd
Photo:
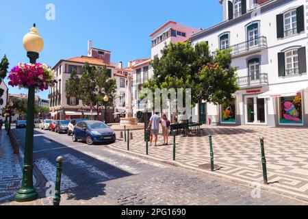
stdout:
[[[40,133],[37,130],[35,132]],[[19,133],[16,138],[19,139],[20,144],[23,146],[25,133]],[[87,144],[84,144],[84,146],[89,148],[88,153],[94,153],[94,151],[91,151],[90,146]],[[62,194],[68,194],[68,200],[90,200],[98,196],[105,196],[107,181],[133,175],[117,166],[103,162],[101,159],[57,142],[56,139],[50,141],[50,137],[34,136],[34,164],[36,164],[34,170],[40,176],[38,180],[40,184],[36,186],[44,190],[40,194],[41,198],[46,197],[45,192],[48,190],[46,183],[48,181],[55,183],[55,160],[58,156],[64,157],[62,164]]]

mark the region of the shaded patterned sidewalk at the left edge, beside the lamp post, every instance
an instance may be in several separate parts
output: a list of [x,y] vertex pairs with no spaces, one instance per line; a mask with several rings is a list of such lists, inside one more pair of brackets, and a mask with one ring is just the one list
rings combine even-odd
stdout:
[[19,188],[23,171],[21,155],[13,155],[7,132],[0,131],[0,203],[12,201]]

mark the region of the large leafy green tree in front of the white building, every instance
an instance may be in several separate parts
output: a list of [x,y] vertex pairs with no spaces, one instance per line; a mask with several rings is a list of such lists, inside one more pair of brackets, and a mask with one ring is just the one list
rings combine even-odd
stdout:
[[[203,100],[221,104],[231,99],[231,95],[239,89],[236,69],[229,67],[230,64],[229,49],[216,51],[216,55],[212,56],[205,42],[195,47],[190,42],[166,44],[162,57],[156,57],[151,63],[153,77],[143,87],[153,92],[155,88],[190,88],[191,107]],[[143,98],[144,94],[141,93],[140,99]]]

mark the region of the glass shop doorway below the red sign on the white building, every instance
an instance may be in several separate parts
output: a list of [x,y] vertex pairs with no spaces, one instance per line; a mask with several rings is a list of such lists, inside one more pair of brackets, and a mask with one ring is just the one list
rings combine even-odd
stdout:
[[266,125],[266,102],[257,96],[246,96],[245,99],[246,124]]

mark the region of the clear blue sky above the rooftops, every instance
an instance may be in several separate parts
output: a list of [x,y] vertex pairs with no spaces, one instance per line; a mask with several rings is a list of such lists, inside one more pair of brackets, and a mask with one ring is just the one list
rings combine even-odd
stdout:
[[[48,3],[55,5],[55,21],[45,18]],[[0,5],[0,57],[8,56],[10,68],[29,62],[22,39],[33,23],[45,44],[38,62],[54,66],[61,59],[87,55],[88,40],[93,40],[95,48],[112,51],[112,62],[126,66],[129,60],[151,57],[149,35],[166,21],[196,28],[222,21],[218,0],[1,0]],[[48,91],[38,95],[47,99]]]

